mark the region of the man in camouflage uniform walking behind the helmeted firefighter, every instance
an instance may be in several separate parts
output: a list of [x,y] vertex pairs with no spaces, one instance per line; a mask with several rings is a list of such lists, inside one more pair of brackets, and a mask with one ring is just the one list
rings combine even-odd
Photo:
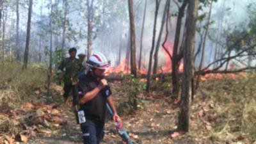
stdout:
[[[76,48],[72,47],[68,50],[70,57],[65,58],[61,61],[60,66],[58,67],[59,78],[62,79],[62,73],[64,73],[64,103],[67,104],[68,96],[70,90],[72,90],[73,96],[73,106],[76,106],[77,102],[77,83],[78,83],[78,74],[83,68],[83,65],[80,60],[76,58]],[[64,72],[63,72],[64,71]]]

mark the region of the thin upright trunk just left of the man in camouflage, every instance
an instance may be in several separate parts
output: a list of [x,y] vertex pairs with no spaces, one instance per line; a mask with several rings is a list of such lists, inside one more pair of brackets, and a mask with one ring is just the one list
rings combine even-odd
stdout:
[[52,76],[52,0],[51,0],[51,14],[50,14],[50,61],[49,61],[49,72],[48,72],[48,84],[47,84],[47,97],[50,95],[51,88],[51,76]]

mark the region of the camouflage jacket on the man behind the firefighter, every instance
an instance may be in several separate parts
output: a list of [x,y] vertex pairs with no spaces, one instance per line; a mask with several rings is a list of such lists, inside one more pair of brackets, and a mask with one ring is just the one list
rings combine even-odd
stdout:
[[[75,58],[73,61],[71,61],[70,58],[65,58],[61,61],[57,73],[64,73],[63,78],[66,84],[75,85],[78,83],[78,74],[82,68],[83,65],[77,58]],[[65,72],[63,72],[63,70]]]

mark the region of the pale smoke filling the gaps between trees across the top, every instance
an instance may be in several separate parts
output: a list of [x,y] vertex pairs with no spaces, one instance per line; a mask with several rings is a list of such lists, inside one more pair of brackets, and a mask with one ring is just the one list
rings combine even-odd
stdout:
[[[49,1],[44,0],[43,15],[49,15],[49,9],[45,6]],[[87,19],[86,19],[86,6],[85,2],[74,3],[78,5],[73,5],[74,8],[79,9],[79,5],[83,8],[82,10],[77,10],[75,12],[69,13],[68,18],[70,19],[70,26],[76,29],[76,31],[81,31],[83,36],[77,42],[73,40],[67,40],[66,44],[70,47],[79,47],[77,53],[84,53],[86,51],[86,32],[87,32]],[[211,21],[212,24],[209,28],[209,35],[212,35],[213,38],[220,38],[223,40],[223,31],[228,28],[234,28],[240,22],[246,21],[248,14],[246,13],[246,7],[249,3],[252,3],[252,0],[218,0],[212,5],[212,15]],[[147,3],[147,12],[145,17],[145,28],[143,31],[143,41],[142,41],[142,61],[145,63],[143,67],[148,66],[149,52],[152,47],[152,34],[153,34],[153,25],[154,25],[154,14],[155,14],[155,1],[148,0]],[[156,29],[156,40],[159,35],[159,29],[161,26],[161,19],[163,17],[165,1],[162,0],[159,6],[159,13],[157,17],[157,29]],[[38,15],[40,15],[40,6],[41,3],[34,3],[33,5],[33,16],[32,19],[35,22],[38,20]],[[135,18],[135,30],[136,30],[136,53],[137,60],[139,58],[138,54],[140,52],[140,36],[142,29],[142,20],[143,20],[143,11],[145,7],[145,0],[134,0],[134,18]],[[74,9],[73,8],[73,9]],[[172,44],[175,36],[176,20],[177,17],[174,16],[177,13],[177,5],[171,1],[170,14],[173,15],[170,20],[170,28],[168,35],[168,43]],[[203,10],[199,11],[199,15],[202,13],[208,13],[209,7],[204,7]],[[20,29],[26,30],[26,15],[27,10],[20,10]],[[221,20],[221,22],[220,22]],[[164,26],[165,27],[165,26]],[[221,27],[221,29],[220,29]],[[35,28],[35,26],[32,26]],[[184,19],[182,20],[182,31],[180,39],[182,39],[182,33],[184,31]],[[165,29],[165,28],[164,28]],[[36,31],[34,29],[33,31]],[[125,59],[125,54],[129,45],[129,13],[128,13],[128,4],[127,1],[96,1],[95,2],[95,21],[93,22],[93,42],[92,47],[93,51],[99,51],[104,53],[108,59],[111,61],[111,65],[115,66],[118,62],[118,54],[120,51],[121,61]],[[166,30],[164,30],[162,35],[161,44],[163,43]],[[61,35],[59,36],[61,41]],[[196,35],[196,49],[200,42],[200,37]],[[156,44],[156,43],[155,43]],[[215,45],[212,43],[212,40],[207,38],[205,44],[205,63],[210,63],[214,58],[214,49]],[[214,45],[214,46],[213,46]],[[166,61],[166,54],[159,49],[159,66]],[[199,54],[200,55],[200,54]],[[198,65],[198,60],[196,59],[196,65]]]

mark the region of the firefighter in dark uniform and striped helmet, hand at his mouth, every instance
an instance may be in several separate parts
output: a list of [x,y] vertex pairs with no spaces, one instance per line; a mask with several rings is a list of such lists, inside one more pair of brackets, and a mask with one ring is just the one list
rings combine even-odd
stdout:
[[83,93],[79,104],[85,119],[85,122],[81,123],[81,130],[84,144],[99,144],[104,136],[107,102],[113,111],[113,120],[120,124],[122,120],[116,113],[110,87],[104,79],[104,72],[109,67],[108,60],[97,52],[90,56],[87,64],[90,71],[79,78],[78,84],[78,92]]

